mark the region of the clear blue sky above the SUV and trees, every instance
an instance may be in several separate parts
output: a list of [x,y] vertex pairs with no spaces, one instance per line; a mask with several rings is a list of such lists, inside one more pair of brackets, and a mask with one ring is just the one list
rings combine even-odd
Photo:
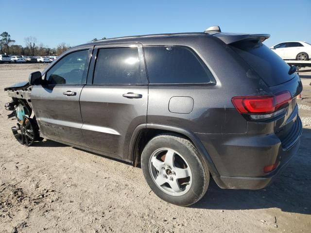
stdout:
[[18,45],[27,36],[53,48],[104,36],[203,32],[212,25],[223,32],[269,33],[267,46],[311,43],[311,0],[3,0],[0,12],[0,32]]

